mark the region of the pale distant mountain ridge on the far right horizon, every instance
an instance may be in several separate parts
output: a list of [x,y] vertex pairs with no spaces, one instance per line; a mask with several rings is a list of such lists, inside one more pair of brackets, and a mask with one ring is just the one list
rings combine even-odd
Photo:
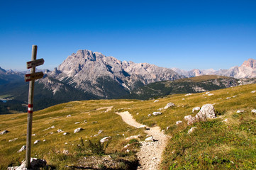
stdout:
[[250,58],[243,62],[243,64],[238,67],[231,67],[230,69],[192,69],[190,71],[186,71],[183,69],[172,68],[178,74],[183,75],[184,77],[197,77],[202,75],[219,75],[225,77],[234,77],[235,79],[243,79],[243,78],[255,78],[256,77],[256,60]]

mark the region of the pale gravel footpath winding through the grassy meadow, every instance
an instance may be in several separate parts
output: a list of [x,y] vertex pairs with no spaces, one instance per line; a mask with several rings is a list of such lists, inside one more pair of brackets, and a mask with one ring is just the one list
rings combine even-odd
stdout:
[[[133,127],[139,127],[142,124],[136,122],[133,116],[128,111],[122,113],[116,113],[121,115],[124,122]],[[156,170],[159,169],[159,165],[162,161],[162,152],[167,145],[168,136],[161,132],[160,127],[148,128],[145,130],[148,136],[152,136],[154,142],[141,142],[140,152],[137,153],[137,157],[140,162],[138,166],[139,170]]]

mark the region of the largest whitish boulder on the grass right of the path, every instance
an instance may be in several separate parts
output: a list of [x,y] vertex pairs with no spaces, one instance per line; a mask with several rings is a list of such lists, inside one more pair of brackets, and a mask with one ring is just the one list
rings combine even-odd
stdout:
[[213,105],[205,104],[202,106],[201,110],[196,114],[195,118],[199,121],[206,121],[207,118],[216,118]]

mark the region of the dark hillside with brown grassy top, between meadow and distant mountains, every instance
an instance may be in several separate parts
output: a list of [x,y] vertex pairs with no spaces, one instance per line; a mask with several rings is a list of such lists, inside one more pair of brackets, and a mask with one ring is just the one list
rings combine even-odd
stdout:
[[[244,80],[245,81],[245,80]],[[238,86],[238,79],[216,75],[204,75],[174,81],[160,81],[139,87],[123,98],[147,100],[169,94],[199,93]]]

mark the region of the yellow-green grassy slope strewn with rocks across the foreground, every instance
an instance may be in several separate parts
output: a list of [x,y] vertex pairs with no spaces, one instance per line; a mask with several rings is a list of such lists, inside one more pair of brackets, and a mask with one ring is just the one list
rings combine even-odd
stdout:
[[[144,135],[143,130],[136,130],[114,114],[116,111],[129,111],[140,123],[146,125],[160,125],[168,135],[172,135],[162,161],[162,169],[255,169],[256,166],[256,115],[251,110],[256,108],[256,84],[238,86],[229,89],[211,91],[213,96],[205,93],[175,94],[165,98],[150,101],[128,100],[101,100],[79,101],[63,103],[34,113],[33,142],[46,140],[33,145],[32,157],[43,158],[58,167],[78,164],[79,154],[76,145],[80,137],[84,140],[99,140],[111,136],[112,140],[107,153],[121,152],[126,145],[125,137],[130,135]],[[235,97],[233,97],[235,96]],[[230,99],[226,99],[230,97]],[[184,98],[184,100],[183,100]],[[148,114],[163,108],[172,102],[176,106],[162,111],[162,115],[148,116]],[[195,115],[192,108],[203,106],[206,103],[215,103],[214,107],[218,118],[206,123],[186,125],[185,115]],[[106,106],[113,106],[111,111],[97,110]],[[244,113],[236,113],[238,110]],[[67,118],[67,115],[72,117]],[[223,120],[228,119],[228,122]],[[75,122],[83,122],[75,125]],[[175,125],[182,120],[181,125]],[[98,123],[94,123],[97,121]],[[45,130],[55,125],[54,129]],[[187,131],[196,126],[191,135]],[[84,131],[74,134],[75,128],[84,128]],[[57,129],[69,132],[63,136]],[[0,167],[6,167],[12,162],[16,164],[25,157],[25,152],[17,153],[22,145],[26,144],[26,114],[0,115],[0,131],[10,132],[0,136]],[[45,131],[43,131],[45,130]],[[99,130],[104,130],[97,137]],[[52,135],[49,132],[54,132]],[[119,134],[119,135],[118,135]],[[124,134],[125,136],[121,135]],[[14,142],[9,140],[18,137]],[[65,145],[67,142],[67,145]],[[64,157],[62,151],[69,150],[69,157]]]

